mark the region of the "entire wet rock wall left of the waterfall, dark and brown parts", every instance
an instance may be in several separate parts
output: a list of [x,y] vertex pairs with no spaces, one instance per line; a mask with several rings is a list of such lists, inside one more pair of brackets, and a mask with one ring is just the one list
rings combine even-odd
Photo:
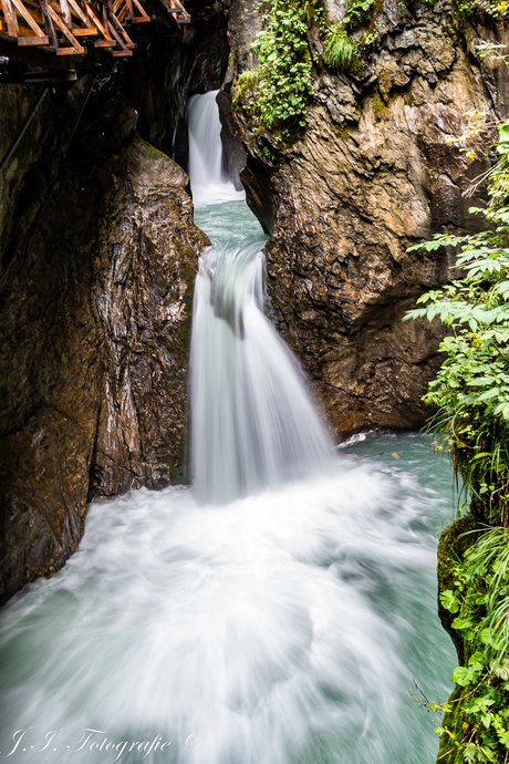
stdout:
[[[178,482],[185,460],[207,239],[118,81],[96,84],[66,145],[89,82],[45,96],[0,173],[0,601],[77,549],[89,493]],[[2,86],[2,148],[37,97]]]

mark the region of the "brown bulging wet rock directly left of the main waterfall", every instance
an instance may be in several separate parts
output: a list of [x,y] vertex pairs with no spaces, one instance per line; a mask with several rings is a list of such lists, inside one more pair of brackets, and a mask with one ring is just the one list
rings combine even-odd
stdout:
[[181,483],[197,255],[188,177],[137,140],[103,221],[95,296],[104,348],[90,498]]

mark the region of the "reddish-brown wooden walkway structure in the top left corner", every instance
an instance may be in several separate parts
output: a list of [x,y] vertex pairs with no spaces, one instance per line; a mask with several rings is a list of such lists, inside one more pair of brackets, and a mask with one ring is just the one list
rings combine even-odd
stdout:
[[10,43],[11,50],[13,43],[24,49],[27,62],[30,50],[51,58],[94,58],[94,50],[102,49],[113,58],[126,58],[136,47],[133,30],[165,18],[177,24],[190,21],[180,0],[154,0],[150,10],[146,0],[0,0],[0,41]]

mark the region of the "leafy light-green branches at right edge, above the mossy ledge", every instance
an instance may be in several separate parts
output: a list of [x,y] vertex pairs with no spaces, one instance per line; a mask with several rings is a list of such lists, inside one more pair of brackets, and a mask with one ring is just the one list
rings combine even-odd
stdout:
[[[497,146],[490,179],[489,229],[472,236],[436,235],[418,245],[434,251],[460,247],[465,277],[419,298],[425,308],[406,319],[438,317],[451,330],[440,345],[447,353],[425,401],[440,407],[436,420],[464,478],[506,524],[509,508],[509,123]],[[492,519],[496,519],[494,515]]]

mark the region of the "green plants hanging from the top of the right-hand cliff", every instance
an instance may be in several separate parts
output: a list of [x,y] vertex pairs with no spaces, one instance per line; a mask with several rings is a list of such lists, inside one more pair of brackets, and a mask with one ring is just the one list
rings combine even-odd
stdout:
[[289,130],[305,126],[313,86],[308,28],[318,0],[270,0],[264,29],[252,43],[259,61],[258,113],[260,127]]

